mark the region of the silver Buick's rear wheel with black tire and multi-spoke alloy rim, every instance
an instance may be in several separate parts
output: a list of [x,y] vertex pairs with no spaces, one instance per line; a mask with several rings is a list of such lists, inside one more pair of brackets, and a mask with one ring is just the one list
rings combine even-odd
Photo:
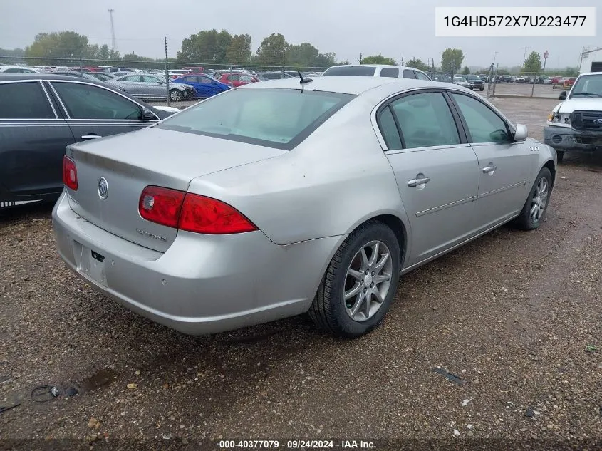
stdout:
[[[377,258],[373,260],[377,243]],[[393,230],[382,222],[365,222],[334,254],[308,311],[310,318],[318,327],[343,338],[372,331],[393,301],[399,271],[400,245]],[[347,300],[346,294],[351,295]],[[358,307],[355,313],[354,307]]]

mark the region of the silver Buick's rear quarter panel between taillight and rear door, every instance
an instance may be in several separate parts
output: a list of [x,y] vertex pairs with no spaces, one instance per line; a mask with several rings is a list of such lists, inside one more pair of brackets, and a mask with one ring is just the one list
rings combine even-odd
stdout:
[[348,234],[380,214],[407,224],[370,123],[373,105],[363,102],[353,100],[286,155],[197,177],[189,190],[231,204],[276,244]]

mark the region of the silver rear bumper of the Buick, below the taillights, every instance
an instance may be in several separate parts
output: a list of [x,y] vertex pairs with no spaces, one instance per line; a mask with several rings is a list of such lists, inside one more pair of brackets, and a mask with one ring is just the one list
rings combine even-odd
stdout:
[[[161,253],[86,222],[64,193],[52,217],[58,253],[75,274],[126,308],[192,335],[307,311],[341,240],[279,246],[263,232],[178,232]],[[91,251],[104,256],[102,264],[91,259]]]

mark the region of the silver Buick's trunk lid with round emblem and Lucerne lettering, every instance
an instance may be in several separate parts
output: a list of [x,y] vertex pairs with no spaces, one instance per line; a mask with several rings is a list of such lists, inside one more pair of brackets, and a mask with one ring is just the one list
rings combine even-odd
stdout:
[[68,147],[67,156],[76,162],[78,175],[78,189],[68,189],[68,199],[74,212],[98,227],[165,252],[177,229],[140,216],[138,202],[145,187],[186,191],[195,177],[284,153],[244,142],[146,128]]

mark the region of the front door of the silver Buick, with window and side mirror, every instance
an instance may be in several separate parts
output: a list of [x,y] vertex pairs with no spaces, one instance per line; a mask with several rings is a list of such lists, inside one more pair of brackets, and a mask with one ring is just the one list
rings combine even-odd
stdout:
[[[516,216],[526,200],[537,153],[515,142],[506,121],[479,98],[451,93],[479,160],[477,218],[483,229]],[[530,186],[529,186],[530,187]]]

